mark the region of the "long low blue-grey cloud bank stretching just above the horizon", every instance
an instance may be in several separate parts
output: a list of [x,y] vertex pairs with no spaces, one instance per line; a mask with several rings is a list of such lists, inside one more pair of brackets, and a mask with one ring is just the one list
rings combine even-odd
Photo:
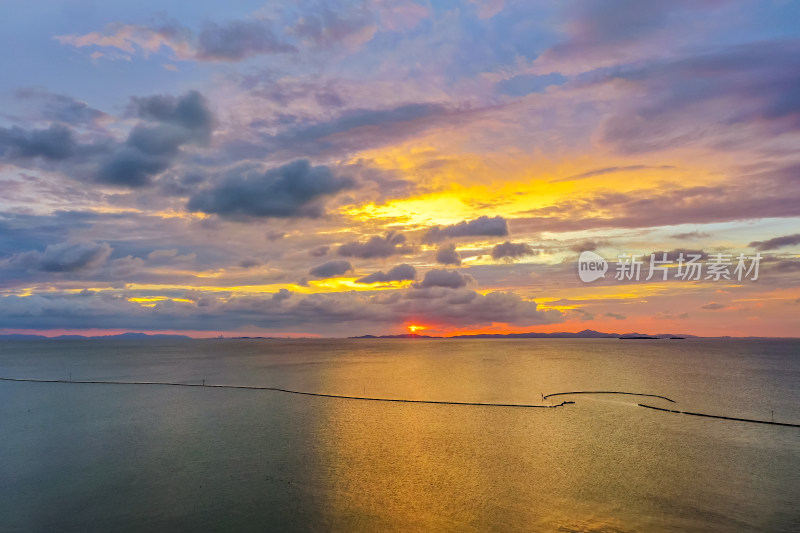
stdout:
[[[413,293],[426,293],[424,298]],[[478,326],[508,323],[520,327],[563,321],[555,310],[542,311],[518,295],[433,287],[427,290],[299,295],[281,290],[258,296],[194,292],[176,294],[190,302],[164,300],[144,307],[128,300],[137,291],[34,293],[0,296],[0,328],[101,328],[128,330],[236,331],[263,327],[342,336],[380,332],[414,316],[423,323]],[[352,332],[352,333],[351,333]]]

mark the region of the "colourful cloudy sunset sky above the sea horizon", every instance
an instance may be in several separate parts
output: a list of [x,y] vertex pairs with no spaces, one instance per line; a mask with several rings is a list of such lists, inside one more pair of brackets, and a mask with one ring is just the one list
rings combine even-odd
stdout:
[[[798,336],[798,20],[789,0],[15,3],[0,333]],[[604,279],[578,278],[586,250]],[[761,263],[614,279],[656,252]]]

